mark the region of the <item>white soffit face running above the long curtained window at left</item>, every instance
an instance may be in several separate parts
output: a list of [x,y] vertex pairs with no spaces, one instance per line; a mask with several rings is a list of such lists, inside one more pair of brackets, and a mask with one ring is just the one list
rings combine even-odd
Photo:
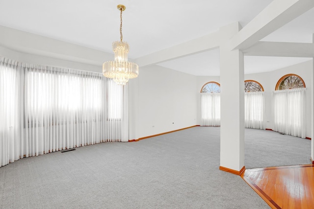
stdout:
[[[20,55],[24,54],[26,57],[28,55],[37,55],[40,57],[46,57],[47,60],[57,60],[57,62],[70,61],[72,63],[100,66],[100,69],[104,61],[114,59],[113,53],[106,53],[104,51],[70,44],[2,25],[0,25],[0,46],[13,51],[21,52]],[[24,60],[18,61],[26,62]],[[35,59],[34,61],[35,63],[33,61],[31,63],[42,64],[37,63],[37,61],[41,62],[41,59]],[[45,65],[50,64],[45,63]],[[59,67],[58,65],[56,66]],[[60,67],[66,68],[65,66]]]

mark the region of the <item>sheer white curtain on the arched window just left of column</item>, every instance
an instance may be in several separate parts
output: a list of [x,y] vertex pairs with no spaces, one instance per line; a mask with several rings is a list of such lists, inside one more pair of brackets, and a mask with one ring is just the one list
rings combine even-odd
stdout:
[[201,126],[220,126],[220,93],[201,93]]

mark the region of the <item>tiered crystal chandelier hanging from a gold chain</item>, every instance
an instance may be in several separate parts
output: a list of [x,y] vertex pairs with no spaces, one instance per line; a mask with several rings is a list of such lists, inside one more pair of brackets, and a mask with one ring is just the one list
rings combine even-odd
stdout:
[[104,62],[103,74],[118,85],[126,85],[129,79],[138,76],[138,65],[128,62],[129,44],[122,41],[122,12],[126,7],[119,4],[117,8],[120,10],[120,41],[112,43],[114,61]]

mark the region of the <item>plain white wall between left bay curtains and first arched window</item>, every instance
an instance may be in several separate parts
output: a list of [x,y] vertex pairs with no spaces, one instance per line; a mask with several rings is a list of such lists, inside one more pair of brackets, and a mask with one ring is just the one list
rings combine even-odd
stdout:
[[[196,125],[199,90],[196,76],[149,66],[140,69],[138,78],[129,84],[131,139],[138,139]],[[134,127],[133,127],[134,128]],[[136,132],[136,133],[134,133]]]

